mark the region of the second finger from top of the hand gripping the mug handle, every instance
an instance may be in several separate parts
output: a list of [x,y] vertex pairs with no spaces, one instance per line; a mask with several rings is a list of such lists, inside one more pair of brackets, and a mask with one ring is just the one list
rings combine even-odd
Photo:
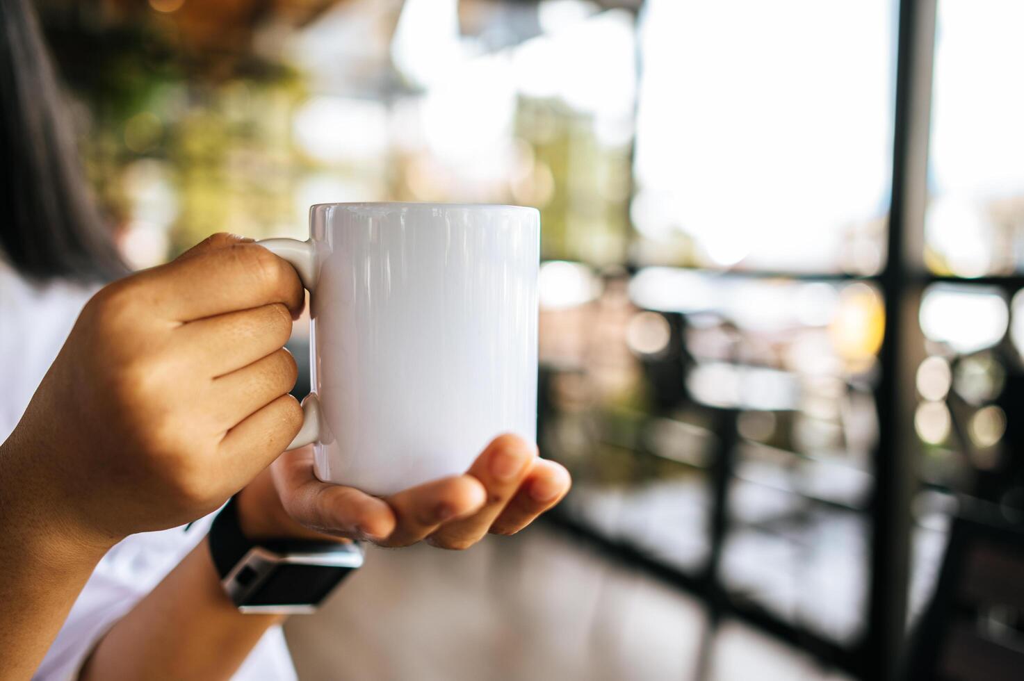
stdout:
[[191,367],[221,376],[284,347],[292,335],[292,313],[282,303],[270,303],[189,322],[174,333]]

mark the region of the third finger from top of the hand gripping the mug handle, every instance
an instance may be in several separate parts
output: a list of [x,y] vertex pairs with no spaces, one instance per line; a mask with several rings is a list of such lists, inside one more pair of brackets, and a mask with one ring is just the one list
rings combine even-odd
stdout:
[[211,391],[216,423],[230,428],[295,387],[299,368],[295,357],[279,348],[248,367],[213,380]]

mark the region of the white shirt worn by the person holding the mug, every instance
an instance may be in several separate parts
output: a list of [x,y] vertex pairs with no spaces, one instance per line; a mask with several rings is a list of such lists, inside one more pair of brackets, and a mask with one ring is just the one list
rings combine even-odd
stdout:
[[[93,289],[65,282],[34,287],[0,259],[0,441],[25,413]],[[206,536],[212,516],[182,527],[132,535],[103,556],[79,594],[35,679],[75,679],[103,634]],[[294,681],[280,627],[260,639],[237,681]]]

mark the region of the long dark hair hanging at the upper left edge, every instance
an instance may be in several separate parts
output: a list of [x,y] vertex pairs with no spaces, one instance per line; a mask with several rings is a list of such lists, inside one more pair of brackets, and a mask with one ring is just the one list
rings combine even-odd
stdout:
[[82,172],[29,0],[0,0],[0,257],[35,280],[127,271]]

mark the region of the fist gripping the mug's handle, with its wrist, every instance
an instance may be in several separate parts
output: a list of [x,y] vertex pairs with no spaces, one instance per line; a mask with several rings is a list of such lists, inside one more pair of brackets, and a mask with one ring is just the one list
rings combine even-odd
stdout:
[[27,491],[8,520],[109,547],[216,509],[302,423],[302,304],[288,263],[229,235],[101,289],[4,443]]

